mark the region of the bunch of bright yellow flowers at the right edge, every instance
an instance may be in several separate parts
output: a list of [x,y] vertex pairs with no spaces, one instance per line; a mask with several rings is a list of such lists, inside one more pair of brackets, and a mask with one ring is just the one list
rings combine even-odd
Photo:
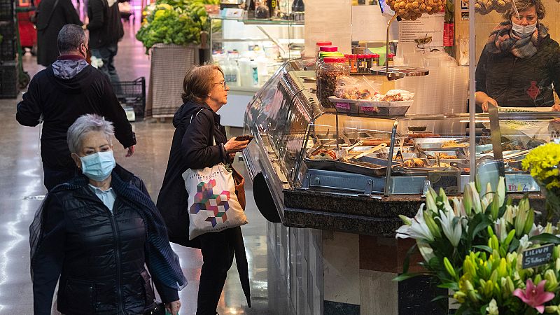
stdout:
[[534,148],[521,165],[531,169],[531,176],[545,195],[548,218],[560,214],[560,144],[550,142]]

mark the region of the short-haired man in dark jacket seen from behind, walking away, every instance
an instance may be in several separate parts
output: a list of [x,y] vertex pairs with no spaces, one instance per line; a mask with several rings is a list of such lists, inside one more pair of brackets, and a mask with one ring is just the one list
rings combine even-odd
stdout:
[[44,183],[51,190],[73,178],[76,165],[66,146],[66,130],[85,113],[105,116],[115,125],[118,141],[134,153],[136,136],[109,79],[85,62],[87,36],[78,25],[64,25],[57,39],[60,56],[39,71],[23,94],[15,118],[34,127],[43,122],[41,158]]

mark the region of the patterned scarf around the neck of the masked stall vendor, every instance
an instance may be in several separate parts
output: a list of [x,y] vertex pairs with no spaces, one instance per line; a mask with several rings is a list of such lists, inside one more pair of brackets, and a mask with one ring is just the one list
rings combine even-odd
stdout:
[[533,57],[537,53],[539,39],[545,38],[548,29],[542,23],[538,24],[533,34],[521,37],[512,31],[512,22],[501,22],[490,33],[488,38],[489,50],[493,54],[511,52],[518,58]]

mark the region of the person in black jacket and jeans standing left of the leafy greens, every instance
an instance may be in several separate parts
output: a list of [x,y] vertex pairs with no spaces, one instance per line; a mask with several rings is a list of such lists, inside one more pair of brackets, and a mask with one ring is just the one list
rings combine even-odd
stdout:
[[123,38],[123,22],[120,20],[117,0],[89,0],[87,1],[87,17],[89,24],[84,29],[90,30],[90,50],[92,57],[102,59],[99,67],[111,82],[118,82],[115,56],[118,51],[118,41]]

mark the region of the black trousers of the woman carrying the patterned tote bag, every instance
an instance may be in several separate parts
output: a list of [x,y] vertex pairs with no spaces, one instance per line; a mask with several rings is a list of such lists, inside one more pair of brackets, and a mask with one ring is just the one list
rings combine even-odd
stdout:
[[200,235],[202,272],[198,285],[197,315],[215,315],[225,278],[232,267],[232,229]]

